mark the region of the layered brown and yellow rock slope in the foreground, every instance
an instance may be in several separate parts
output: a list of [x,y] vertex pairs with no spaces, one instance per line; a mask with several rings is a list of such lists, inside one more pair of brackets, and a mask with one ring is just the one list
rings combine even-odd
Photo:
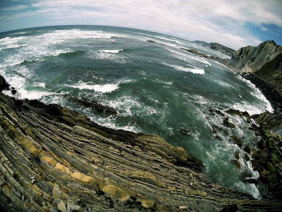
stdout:
[[101,127],[55,104],[0,93],[0,143],[2,211],[282,208],[214,184],[202,161],[157,135]]

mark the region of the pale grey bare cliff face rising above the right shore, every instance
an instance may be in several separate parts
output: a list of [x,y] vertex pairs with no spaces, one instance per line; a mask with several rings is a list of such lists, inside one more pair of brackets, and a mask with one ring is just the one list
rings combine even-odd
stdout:
[[267,62],[282,54],[282,47],[272,41],[265,41],[257,47],[247,46],[238,49],[234,57],[227,60],[240,73],[256,72]]

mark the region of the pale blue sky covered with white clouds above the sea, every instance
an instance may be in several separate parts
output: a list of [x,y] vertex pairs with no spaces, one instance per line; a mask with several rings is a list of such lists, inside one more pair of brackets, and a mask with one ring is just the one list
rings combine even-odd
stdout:
[[282,45],[282,0],[0,0],[0,32],[87,24],[144,29],[235,50]]

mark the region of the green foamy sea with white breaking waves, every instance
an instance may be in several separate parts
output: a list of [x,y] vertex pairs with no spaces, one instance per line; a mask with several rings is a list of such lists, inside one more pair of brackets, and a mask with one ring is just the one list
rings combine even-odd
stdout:
[[[114,129],[160,135],[201,159],[203,171],[216,183],[259,198],[256,186],[240,177],[243,172],[258,177],[251,164],[240,159],[238,170],[231,163],[235,151],[244,152],[230,136],[244,135],[243,147],[252,147],[254,132],[243,117],[225,114],[237,126],[230,129],[222,124],[224,117],[208,110],[256,114],[271,111],[270,103],[232,70],[178,48],[227,57],[184,39],[137,29],[38,27],[0,33],[0,74],[19,99],[69,107]],[[71,97],[114,107],[118,114],[100,114]],[[213,133],[213,125],[222,130]],[[192,133],[185,136],[180,129]]]

